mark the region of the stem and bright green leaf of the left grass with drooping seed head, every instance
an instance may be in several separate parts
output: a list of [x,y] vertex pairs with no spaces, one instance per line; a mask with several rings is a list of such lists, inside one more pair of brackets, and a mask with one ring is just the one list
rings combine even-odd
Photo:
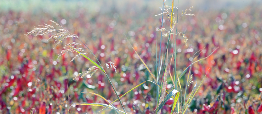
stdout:
[[[62,42],[61,40],[59,40],[59,41]],[[81,42],[82,42],[82,41],[81,41]],[[62,43],[64,43],[64,42],[62,42]],[[83,42],[82,42],[82,43],[83,43]],[[65,43],[65,44],[66,44],[66,43]],[[114,88],[114,86],[113,86],[111,80],[109,79],[108,75],[107,75],[106,72],[104,71],[104,68],[101,66],[101,64],[100,64],[99,61],[98,61],[98,62],[99,62],[99,64],[100,64],[100,66],[99,66],[96,62],[94,62],[92,59],[88,58],[86,55],[84,55],[84,54],[82,54],[81,52],[77,51],[75,48],[71,47],[71,46],[68,45],[68,44],[66,44],[66,45],[69,46],[70,48],[74,49],[76,52],[78,52],[79,54],[81,54],[82,56],[84,56],[86,59],[88,59],[89,61],[91,61],[92,63],[94,63],[97,67],[99,67],[99,69],[101,69],[101,70],[104,72],[104,74],[106,75],[106,77],[107,77],[109,83],[111,84],[111,86],[112,86],[113,89],[114,89],[114,92],[115,92],[116,95],[117,95],[117,91],[116,91],[116,89]],[[91,51],[91,50],[90,50],[90,51]],[[91,52],[92,52],[92,51],[91,51]],[[118,98],[118,100],[120,101],[120,104],[122,105],[122,108],[123,108],[123,110],[124,110],[124,112],[125,112],[124,105],[122,104],[122,102],[121,102],[121,100],[120,100],[120,98],[119,98],[118,95],[117,95],[117,98]],[[125,112],[125,113],[126,113],[126,112]]]

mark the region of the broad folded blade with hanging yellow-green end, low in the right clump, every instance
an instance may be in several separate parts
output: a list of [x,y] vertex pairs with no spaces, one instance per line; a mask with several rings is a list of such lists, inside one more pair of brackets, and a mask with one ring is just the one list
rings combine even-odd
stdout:
[[[177,94],[176,94],[177,93]],[[166,103],[167,100],[169,100],[171,97],[173,97],[173,95],[175,95],[175,98],[174,98],[174,103],[176,105],[176,103],[178,102],[178,97],[179,97],[179,92],[175,89],[173,89],[169,94],[166,95],[166,98],[163,100],[163,102],[159,105],[159,107],[157,108],[157,111],[158,112]]]

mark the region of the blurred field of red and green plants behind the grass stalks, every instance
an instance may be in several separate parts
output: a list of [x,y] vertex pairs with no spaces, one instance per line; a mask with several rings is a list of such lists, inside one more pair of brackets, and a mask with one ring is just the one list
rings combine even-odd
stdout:
[[[77,53],[65,53],[58,58],[65,45],[55,47],[54,39],[47,41],[52,34],[36,37],[25,35],[34,26],[43,23],[55,26],[48,20],[78,35],[101,64],[109,61],[115,63],[117,72],[113,68],[106,71],[119,96],[146,80],[153,81],[126,37],[155,75],[161,34],[157,29],[161,28],[162,18],[161,15],[155,15],[161,13],[159,7],[162,7],[162,2],[0,1],[0,113],[29,114],[30,109],[35,108],[37,114],[64,114],[68,113],[68,98],[70,105],[77,102],[107,104],[97,96],[81,92],[94,92],[111,102],[117,99],[102,71],[72,80],[77,73],[87,70],[93,64],[84,57],[70,62]],[[170,6],[172,1],[165,3]],[[238,111],[235,113],[250,113],[250,110],[254,110],[260,114],[261,1],[203,0],[180,3],[179,15],[182,10],[194,6],[190,13],[195,16],[183,16],[178,20],[178,31],[188,38],[187,46],[182,36],[177,39],[178,75],[191,64],[195,52],[203,50],[193,61],[207,57],[219,47],[207,59],[193,65],[193,82],[189,85],[188,95],[194,84],[199,84],[208,73],[186,113],[208,113],[205,110],[208,105],[212,107],[219,99],[219,105],[215,108],[219,114],[231,113],[231,107]],[[177,6],[177,1],[175,4]],[[170,22],[168,18],[164,20],[163,27],[169,30]],[[167,61],[173,75],[174,59],[169,68],[173,53],[172,41],[173,36],[168,46]],[[72,38],[65,42],[79,41]],[[167,37],[163,37],[161,57],[166,51],[166,43]],[[79,47],[87,49],[83,45]],[[87,56],[95,60],[91,54]],[[211,69],[207,71],[209,67]],[[182,88],[186,86],[186,76],[180,80]],[[172,79],[168,76],[167,91],[172,85]],[[145,83],[121,98],[126,111],[133,114],[155,113],[155,90],[155,85]],[[182,89],[183,97],[184,93]],[[163,106],[163,114],[170,113],[171,104],[172,100]],[[119,102],[113,105],[122,109]],[[97,113],[101,109],[96,106],[73,105],[70,113]],[[99,113],[115,112],[104,109]]]

